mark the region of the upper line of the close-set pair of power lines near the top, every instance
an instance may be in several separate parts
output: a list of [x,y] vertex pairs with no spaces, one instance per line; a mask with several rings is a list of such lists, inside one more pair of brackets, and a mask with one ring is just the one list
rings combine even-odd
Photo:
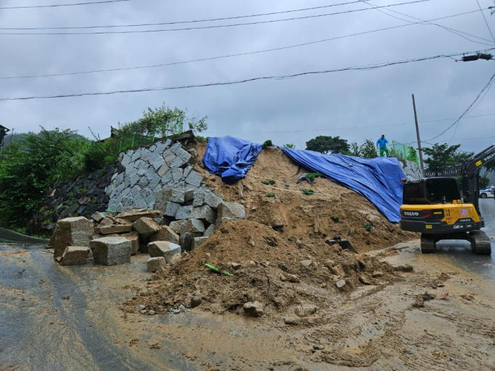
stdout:
[[333,6],[343,6],[349,5],[353,3],[359,3],[360,0],[349,1],[347,3],[338,3],[324,6],[314,6],[313,8],[301,8],[301,9],[293,9],[293,10],[283,10],[280,12],[272,12],[272,13],[259,13],[252,15],[238,15],[236,17],[221,17],[221,18],[209,18],[206,20],[192,20],[192,21],[176,21],[176,22],[160,22],[160,23],[142,23],[142,24],[119,24],[119,25],[109,25],[109,26],[82,26],[82,27],[31,27],[31,28],[7,28],[0,27],[0,29],[5,30],[36,30],[36,29],[109,29],[116,27],[144,27],[144,26],[165,26],[167,24],[187,24],[187,23],[197,23],[197,22],[213,22],[213,21],[222,21],[222,20],[238,20],[241,18],[250,18],[250,17],[261,17],[264,15],[275,15],[275,14],[284,14],[284,13],[294,13],[294,12],[302,12],[306,10],[315,10],[322,8],[330,8]]

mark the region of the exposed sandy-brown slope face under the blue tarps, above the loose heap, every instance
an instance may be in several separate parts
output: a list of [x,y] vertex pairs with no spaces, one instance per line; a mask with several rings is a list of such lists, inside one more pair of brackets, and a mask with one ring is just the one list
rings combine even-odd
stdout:
[[[203,158],[206,144],[199,143],[195,149]],[[296,183],[301,174],[310,171],[300,168],[278,148],[261,151],[248,176],[235,185],[222,183],[220,176],[199,165],[197,170],[223,199],[243,204],[248,220],[272,227],[281,236],[294,235],[313,243],[341,236],[359,252],[418,238],[418,234],[404,232],[389,222],[367,199],[333,181],[317,178],[313,184]],[[265,185],[263,181],[275,183]],[[301,188],[314,193],[304,195]]]

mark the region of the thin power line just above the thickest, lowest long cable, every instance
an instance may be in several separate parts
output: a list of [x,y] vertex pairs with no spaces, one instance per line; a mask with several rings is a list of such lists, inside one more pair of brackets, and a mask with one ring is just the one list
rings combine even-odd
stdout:
[[[439,17],[435,18],[434,20],[444,20],[446,18],[451,18],[451,17],[458,17],[460,15],[466,15],[466,14],[471,14],[471,13],[477,13],[479,10],[471,10],[469,12],[464,12],[464,13],[459,13],[455,15],[447,15],[445,17]],[[434,21],[430,20],[430,21]],[[70,76],[70,75],[83,75],[83,74],[88,74],[88,73],[104,73],[104,72],[115,72],[115,71],[121,71],[121,70],[139,70],[142,68],[157,68],[157,67],[165,67],[165,66],[175,66],[178,64],[185,64],[185,63],[195,63],[195,62],[200,62],[200,61],[212,61],[214,59],[223,59],[223,58],[231,58],[233,56],[243,56],[243,55],[250,55],[250,54],[259,54],[259,53],[266,53],[266,52],[275,52],[277,50],[285,50],[285,49],[291,49],[294,47],[302,47],[302,46],[307,46],[307,45],[314,45],[317,43],[326,43],[328,41],[333,41],[333,40],[339,40],[342,38],[349,38],[353,36],[360,36],[360,35],[365,35],[367,33],[375,33],[379,31],[388,31],[390,29],[399,29],[402,27],[408,27],[412,26],[413,24],[421,24],[424,23],[425,21],[421,22],[413,22],[410,24],[401,24],[399,26],[393,26],[393,27],[386,27],[384,29],[375,29],[372,31],[363,31],[363,32],[358,32],[358,33],[351,33],[349,35],[344,35],[344,36],[336,36],[334,38],[325,38],[323,40],[316,40],[316,41],[310,41],[308,43],[302,43],[302,44],[296,44],[296,45],[288,45],[284,47],[275,47],[272,49],[265,49],[265,50],[256,50],[254,52],[244,52],[244,53],[238,53],[238,54],[227,54],[223,56],[211,56],[208,58],[201,58],[201,59],[192,59],[189,61],[178,61],[178,62],[170,62],[170,63],[160,63],[160,64],[155,64],[155,65],[149,65],[149,66],[134,66],[134,67],[122,67],[122,68],[109,68],[109,69],[103,69],[103,70],[89,70],[89,71],[78,71],[78,72],[70,72],[70,73],[54,73],[54,74],[46,74],[46,75],[24,75],[24,76],[5,76],[5,77],[0,77],[0,79],[27,79],[27,78],[34,78],[34,77],[55,77],[55,76]],[[427,21],[429,22],[429,21]]]

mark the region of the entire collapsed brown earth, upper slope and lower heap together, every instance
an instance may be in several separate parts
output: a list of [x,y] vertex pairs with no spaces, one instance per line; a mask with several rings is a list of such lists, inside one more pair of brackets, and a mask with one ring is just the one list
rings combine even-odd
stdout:
[[[195,149],[203,158],[206,144]],[[196,168],[222,199],[245,206],[246,220],[222,223],[203,245],[156,273],[148,292],[124,303],[124,310],[165,313],[200,301],[200,310],[244,314],[245,303],[258,302],[264,318],[289,316],[291,322],[296,314],[299,324],[310,321],[308,308],[317,310],[331,296],[401,279],[388,264],[325,241],[340,236],[367,252],[416,234],[403,232],[367,199],[328,179],[296,183],[308,171],[282,150],[261,151],[248,177],[235,185],[222,183],[201,162]],[[314,192],[305,195],[304,189]],[[234,276],[214,273],[206,263]]]

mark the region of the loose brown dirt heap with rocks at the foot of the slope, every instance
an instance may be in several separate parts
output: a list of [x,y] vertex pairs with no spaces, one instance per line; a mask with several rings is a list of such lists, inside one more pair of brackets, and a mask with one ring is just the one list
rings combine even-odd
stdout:
[[[257,301],[264,318],[296,313],[295,322],[303,324],[301,308],[323,310],[331,296],[351,292],[357,285],[401,280],[389,264],[374,257],[337,245],[291,240],[258,222],[224,222],[199,248],[156,273],[148,291],[124,303],[123,309],[139,312],[144,305],[143,313],[165,313],[181,305],[189,308],[196,297],[200,310],[244,314],[243,305]],[[204,264],[233,276],[215,273]]]

